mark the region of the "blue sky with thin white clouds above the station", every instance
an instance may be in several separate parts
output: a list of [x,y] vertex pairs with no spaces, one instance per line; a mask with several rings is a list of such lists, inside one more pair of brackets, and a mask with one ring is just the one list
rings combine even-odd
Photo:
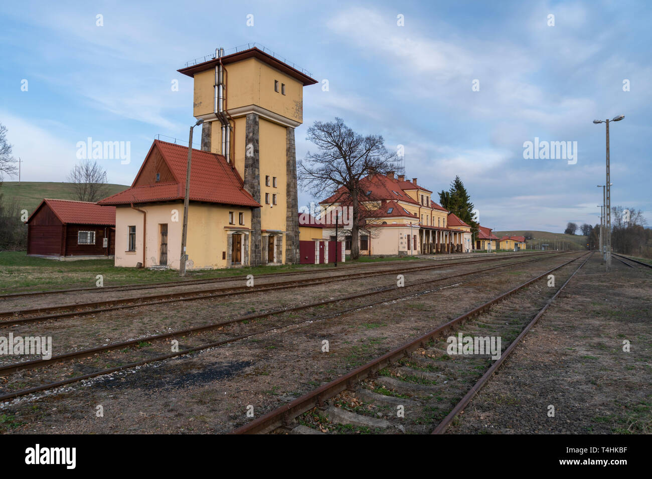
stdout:
[[[434,192],[460,175],[483,225],[563,231],[599,222],[605,128],[591,122],[623,113],[610,128],[612,204],[652,224],[645,1],[27,1],[0,14],[0,123],[23,181],[65,181],[91,137],[130,141],[130,164],[102,166],[131,184],[157,134],[187,138],[192,79],[176,70],[259,42],[329,81],[304,88],[298,158],[310,124],[342,117],[404,145],[406,176]],[[524,159],[535,138],[576,141],[576,164]]]

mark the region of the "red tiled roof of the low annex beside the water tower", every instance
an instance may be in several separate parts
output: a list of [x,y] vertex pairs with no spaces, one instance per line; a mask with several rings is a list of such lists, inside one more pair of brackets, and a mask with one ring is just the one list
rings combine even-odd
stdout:
[[[174,182],[153,183],[133,186],[143,171],[153,149],[157,148],[166,162]],[[184,199],[186,192],[186,165],[188,148],[167,141],[154,140],[147,157],[140,167],[132,187],[121,193],[98,201],[100,205],[125,205],[128,203],[150,203],[154,201],[170,201]],[[224,205],[239,205],[259,207],[243,187],[243,181],[224,159],[224,156],[208,151],[192,149],[192,166],[190,168],[190,199],[221,203]]]

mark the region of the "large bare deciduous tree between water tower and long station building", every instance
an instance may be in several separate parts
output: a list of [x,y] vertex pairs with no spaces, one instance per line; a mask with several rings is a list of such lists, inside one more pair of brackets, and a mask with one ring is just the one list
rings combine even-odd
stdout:
[[385,174],[396,169],[396,153],[385,148],[380,135],[362,136],[351,130],[341,118],[335,121],[316,121],[308,128],[307,138],[319,151],[308,151],[297,165],[297,178],[302,188],[314,196],[323,197],[341,194],[334,203],[351,205],[353,209],[351,227],[351,259],[360,254],[358,236],[363,226],[361,201],[364,192],[359,183],[363,177],[374,171]]

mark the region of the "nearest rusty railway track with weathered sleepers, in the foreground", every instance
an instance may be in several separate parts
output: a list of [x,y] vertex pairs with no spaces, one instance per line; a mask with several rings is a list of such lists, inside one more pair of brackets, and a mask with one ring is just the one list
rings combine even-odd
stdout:
[[[406,413],[416,416],[416,428],[411,429],[411,432],[421,432],[420,426],[425,429],[428,425],[432,427],[432,422],[437,422],[438,424],[432,429],[432,433],[443,433],[505,358],[510,355],[518,342],[544,314],[550,304],[559,296],[578,270],[589,260],[591,255],[592,252],[589,252],[544,272],[485,302],[481,306],[452,319],[452,321],[419,336],[419,338],[379,356],[270,413],[252,420],[248,424],[235,429],[232,433],[269,433],[273,431],[291,431],[293,433],[353,432],[359,430],[359,428],[372,432],[395,432],[399,429],[406,432],[405,426],[403,426],[403,424],[407,424],[404,420],[407,417]],[[487,336],[488,333],[494,335],[509,333],[509,328],[502,324],[504,318],[492,318],[489,314],[490,310],[495,308],[499,302],[512,297],[512,295],[522,291],[529,285],[545,279],[548,274],[578,259],[584,259],[584,261],[529,322],[518,325],[519,327],[524,326],[520,330],[520,334],[511,340],[509,347],[505,351],[501,351],[499,358],[488,367],[481,379],[473,383],[473,385],[465,385],[465,381],[461,381],[461,379],[465,377],[467,371],[477,370],[477,368],[483,366],[486,369],[488,363],[486,355],[484,357],[472,355],[471,358],[466,360],[466,364],[462,368],[452,368],[449,364],[454,362],[464,363],[464,358],[468,356],[460,355],[451,360],[451,356],[447,355],[446,351],[448,341],[442,338],[455,330],[462,332],[462,325],[474,317],[475,321],[467,325],[465,333],[473,334],[476,332],[482,336]],[[475,323],[475,327],[473,323]],[[515,325],[507,326],[511,326],[513,329]],[[442,407],[441,403],[439,403],[441,395],[445,394],[445,391],[450,388],[458,386],[462,386],[462,388],[470,386],[470,388],[467,387],[468,391],[461,401]],[[326,401],[329,400],[331,405],[326,407]],[[336,405],[340,407],[336,407]],[[450,411],[447,414],[443,413],[443,411],[449,409]],[[421,410],[421,413],[415,412],[419,410]],[[387,419],[378,418],[378,415],[383,416],[383,413],[386,414]],[[399,413],[403,415],[401,416]],[[327,416],[327,418],[324,416]],[[390,420],[390,417],[393,419]],[[299,418],[299,426],[295,425],[297,418]]]

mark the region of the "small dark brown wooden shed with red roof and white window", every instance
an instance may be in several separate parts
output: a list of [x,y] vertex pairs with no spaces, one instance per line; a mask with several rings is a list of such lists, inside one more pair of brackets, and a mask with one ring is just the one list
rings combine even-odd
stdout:
[[115,254],[115,207],[87,201],[44,199],[27,219],[27,254]]

